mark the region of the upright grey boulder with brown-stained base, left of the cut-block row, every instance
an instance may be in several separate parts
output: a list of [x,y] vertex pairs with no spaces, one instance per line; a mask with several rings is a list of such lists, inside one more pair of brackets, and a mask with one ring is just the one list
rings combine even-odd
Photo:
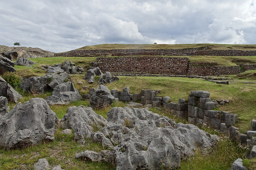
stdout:
[[97,90],[92,94],[90,99],[90,107],[93,109],[104,108],[106,106],[111,106],[114,102],[114,96],[111,95],[110,90],[107,86],[100,85]]

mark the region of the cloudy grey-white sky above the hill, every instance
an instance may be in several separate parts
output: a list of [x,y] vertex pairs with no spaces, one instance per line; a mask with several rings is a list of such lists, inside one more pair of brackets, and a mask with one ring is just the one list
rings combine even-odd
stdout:
[[0,45],[256,44],[256,0],[1,0]]

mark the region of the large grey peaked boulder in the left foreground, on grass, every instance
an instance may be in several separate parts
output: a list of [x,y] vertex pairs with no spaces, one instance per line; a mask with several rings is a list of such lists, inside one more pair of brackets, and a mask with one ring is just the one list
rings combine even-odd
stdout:
[[54,140],[58,117],[42,98],[17,104],[0,120],[0,145],[14,149]]

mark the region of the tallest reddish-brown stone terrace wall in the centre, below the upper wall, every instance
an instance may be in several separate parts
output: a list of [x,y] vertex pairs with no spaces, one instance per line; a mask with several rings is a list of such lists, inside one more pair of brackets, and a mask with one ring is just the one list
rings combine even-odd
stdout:
[[188,57],[99,57],[103,72],[136,72],[138,74],[187,74]]

